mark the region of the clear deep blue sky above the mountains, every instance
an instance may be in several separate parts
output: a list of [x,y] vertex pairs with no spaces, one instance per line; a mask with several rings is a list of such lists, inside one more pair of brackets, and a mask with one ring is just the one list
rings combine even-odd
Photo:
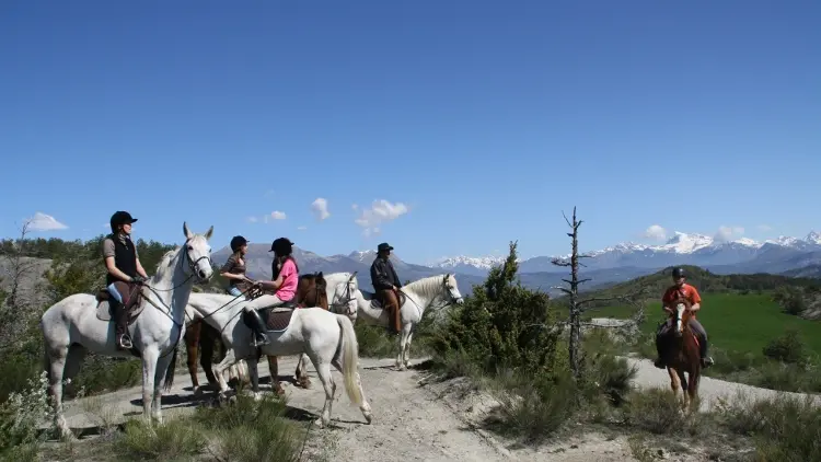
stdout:
[[219,3],[3,4],[0,235],[125,209],[425,262],[565,253],[574,205],[586,250],[821,228],[817,1]]

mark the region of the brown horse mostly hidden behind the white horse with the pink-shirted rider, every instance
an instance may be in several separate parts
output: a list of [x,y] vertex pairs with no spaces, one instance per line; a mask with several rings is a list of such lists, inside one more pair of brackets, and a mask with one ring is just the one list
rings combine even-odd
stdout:
[[[297,286],[297,305],[300,308],[305,307],[322,307],[328,309],[327,293],[325,290],[326,284],[322,276],[322,272],[309,275],[302,275],[299,278],[299,285]],[[258,297],[259,292],[250,293],[251,299]],[[220,332],[215,327],[211,327],[203,320],[196,320],[192,322],[185,328],[185,346],[188,356],[188,373],[192,378],[192,384],[194,390],[199,390],[199,381],[197,379],[197,354],[200,354],[199,365],[203,366],[203,370],[206,373],[208,383],[211,386],[217,386],[217,378],[211,371],[211,365],[215,362],[215,347],[217,344],[220,346],[220,351],[224,355],[224,346],[220,338]],[[268,356],[268,369],[270,370],[271,386],[276,390],[279,395],[285,394],[282,385],[279,383],[279,366],[277,363],[276,356]],[[297,367],[297,384],[302,388],[310,388],[311,381],[308,376],[300,373],[299,367]],[[247,378],[246,378],[247,379]]]

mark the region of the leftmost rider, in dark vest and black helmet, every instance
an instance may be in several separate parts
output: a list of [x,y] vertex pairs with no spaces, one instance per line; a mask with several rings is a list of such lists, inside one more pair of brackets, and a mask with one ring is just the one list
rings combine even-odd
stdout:
[[112,298],[108,304],[114,314],[114,334],[118,349],[130,349],[131,338],[128,336],[128,313],[123,304],[116,281],[140,284],[148,279],[146,270],[137,255],[137,246],[131,241],[131,224],[137,221],[127,211],[117,211],[109,221],[112,233],[103,241],[103,259],[107,274],[105,285]]

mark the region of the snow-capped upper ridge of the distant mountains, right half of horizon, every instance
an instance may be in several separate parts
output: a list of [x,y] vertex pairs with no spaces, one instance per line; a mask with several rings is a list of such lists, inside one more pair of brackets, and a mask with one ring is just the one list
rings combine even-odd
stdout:
[[[800,259],[802,264],[811,263],[816,258],[814,252],[820,252],[819,257],[821,258],[821,234],[816,231],[811,231],[802,239],[779,236],[764,242],[748,238],[727,241],[704,234],[675,232],[670,240],[660,245],[624,242],[610,247],[585,252],[591,256],[591,258],[585,259],[585,265],[589,269],[618,267],[650,269],[677,264],[706,267],[741,265],[743,267],[749,263],[756,268],[755,270],[766,270],[765,266],[772,265],[776,261]],[[556,256],[567,258],[570,255]],[[554,257],[536,256],[520,259],[520,273],[564,272],[563,268],[553,265],[552,259]],[[490,267],[501,262],[504,262],[504,257],[454,256],[442,258],[428,266],[481,276],[487,274]],[[740,268],[740,270],[743,270],[743,268]]]

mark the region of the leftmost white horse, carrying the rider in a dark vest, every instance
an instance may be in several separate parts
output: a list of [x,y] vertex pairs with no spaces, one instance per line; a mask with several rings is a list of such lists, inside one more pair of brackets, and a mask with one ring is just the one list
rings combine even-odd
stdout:
[[[143,418],[162,424],[160,383],[169,390],[174,381],[177,345],[185,334],[185,305],[196,279],[206,281],[212,275],[208,240],[194,234],[183,223],[185,244],[166,253],[157,274],[140,288],[141,312],[128,326],[134,342],[131,350],[117,349],[114,322],[97,319],[96,296],[76,293],[51,305],[39,322],[45,339],[45,368],[55,408],[55,425],[61,437],[73,438],[62,414],[62,382],[80,368],[88,350],[112,357],[142,359]],[[140,308],[138,308],[139,310]]]

